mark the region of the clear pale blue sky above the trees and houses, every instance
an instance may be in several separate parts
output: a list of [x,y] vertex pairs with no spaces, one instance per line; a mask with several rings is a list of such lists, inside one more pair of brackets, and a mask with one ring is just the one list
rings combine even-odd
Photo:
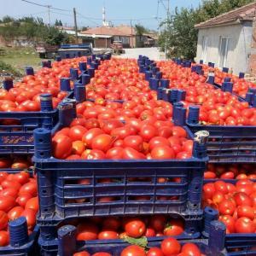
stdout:
[[[100,26],[102,24],[102,6],[105,4],[107,19],[113,20],[114,25],[130,24],[130,19],[133,24],[141,23],[151,29],[156,29],[158,22],[155,19],[157,15],[158,0],[31,0],[34,3],[43,5],[51,5],[56,9],[67,9],[69,11],[61,11],[51,9],[50,20],[61,19],[64,24],[73,25],[72,9],[77,9],[78,25],[79,26]],[[33,15],[42,17],[45,22],[48,22],[48,12],[44,7],[32,5],[22,2],[21,0],[0,0],[2,7],[0,9],[0,18],[4,15],[14,17],[22,17],[25,15]],[[166,0],[163,0],[167,3]],[[175,7],[197,7],[201,0],[170,0],[171,11]],[[166,10],[162,4],[159,6],[158,15],[165,17]],[[89,18],[89,19],[88,19]],[[93,20],[95,18],[99,20]],[[125,20],[121,20],[125,19]],[[136,20],[142,19],[142,20]]]

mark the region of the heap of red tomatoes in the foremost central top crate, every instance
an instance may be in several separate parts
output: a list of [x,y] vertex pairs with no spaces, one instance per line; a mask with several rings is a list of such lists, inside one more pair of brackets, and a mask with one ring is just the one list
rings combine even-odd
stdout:
[[[75,120],[76,121],[76,120]],[[84,119],[58,131],[53,155],[67,160],[187,159],[193,141],[187,131],[157,119]]]

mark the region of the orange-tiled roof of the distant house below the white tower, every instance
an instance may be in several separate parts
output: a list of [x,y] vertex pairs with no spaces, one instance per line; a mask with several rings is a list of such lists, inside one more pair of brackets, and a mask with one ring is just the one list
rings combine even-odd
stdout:
[[120,30],[118,27],[113,26],[98,26],[81,32],[87,35],[97,35],[97,36],[126,36],[129,37],[131,33],[126,33]]

